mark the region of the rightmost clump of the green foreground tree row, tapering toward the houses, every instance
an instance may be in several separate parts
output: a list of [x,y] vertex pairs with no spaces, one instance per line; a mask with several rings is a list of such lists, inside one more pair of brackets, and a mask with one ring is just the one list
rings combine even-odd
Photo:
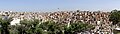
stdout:
[[65,27],[65,34],[76,34],[79,32],[89,31],[94,28],[92,25],[82,22],[71,23],[70,27]]

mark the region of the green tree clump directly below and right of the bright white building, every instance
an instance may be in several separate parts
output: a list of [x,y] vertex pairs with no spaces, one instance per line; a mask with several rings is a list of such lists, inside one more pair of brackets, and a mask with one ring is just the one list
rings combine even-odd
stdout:
[[20,25],[11,26],[11,34],[43,34],[42,28],[38,28],[39,23],[37,19],[22,20]]

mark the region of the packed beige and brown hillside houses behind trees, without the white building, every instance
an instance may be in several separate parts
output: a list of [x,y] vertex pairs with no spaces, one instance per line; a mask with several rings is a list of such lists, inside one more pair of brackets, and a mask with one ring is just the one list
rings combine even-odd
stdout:
[[[58,11],[51,13],[40,13],[40,12],[0,12],[0,16],[12,17],[14,20],[19,19],[39,19],[42,21],[53,20],[60,24],[74,23],[81,21],[83,23],[89,23],[94,25],[94,29],[89,31],[90,33],[112,33],[113,27],[112,22],[109,21],[110,12],[101,11]],[[13,21],[14,21],[13,20]],[[13,25],[13,24],[12,24]]]

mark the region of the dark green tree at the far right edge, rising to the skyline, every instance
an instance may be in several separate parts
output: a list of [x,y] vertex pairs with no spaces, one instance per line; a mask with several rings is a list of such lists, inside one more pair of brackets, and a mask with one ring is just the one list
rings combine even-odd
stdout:
[[113,22],[113,25],[119,24],[120,22],[120,11],[113,10],[109,16],[109,20]]

